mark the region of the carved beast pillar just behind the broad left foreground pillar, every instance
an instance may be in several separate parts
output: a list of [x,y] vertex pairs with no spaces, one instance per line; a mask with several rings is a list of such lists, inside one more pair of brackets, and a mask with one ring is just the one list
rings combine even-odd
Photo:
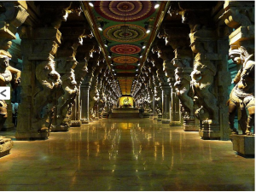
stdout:
[[71,26],[61,27],[65,41],[61,44],[55,61],[56,70],[61,74],[64,95],[56,96],[57,105],[51,131],[68,131],[71,125],[71,108],[75,105],[74,101],[79,91],[74,74],[74,68],[78,63],[76,53],[78,47],[83,44],[84,31],[83,27],[77,29]]

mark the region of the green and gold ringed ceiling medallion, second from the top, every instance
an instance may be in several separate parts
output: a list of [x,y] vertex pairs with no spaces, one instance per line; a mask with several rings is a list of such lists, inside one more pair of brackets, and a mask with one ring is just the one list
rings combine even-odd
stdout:
[[[128,29],[124,32],[121,28],[122,26],[128,26]],[[148,37],[148,33],[146,33],[143,26],[132,24],[108,26],[104,30],[103,35],[105,38],[122,43],[135,42]]]

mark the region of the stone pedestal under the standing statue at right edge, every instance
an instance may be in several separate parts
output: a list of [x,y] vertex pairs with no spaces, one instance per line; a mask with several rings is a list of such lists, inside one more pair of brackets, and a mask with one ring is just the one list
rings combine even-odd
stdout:
[[230,135],[233,150],[239,154],[255,154],[255,136]]

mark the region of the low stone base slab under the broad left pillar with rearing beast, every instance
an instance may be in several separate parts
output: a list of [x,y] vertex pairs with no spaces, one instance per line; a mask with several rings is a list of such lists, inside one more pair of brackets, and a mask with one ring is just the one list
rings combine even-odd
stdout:
[[29,140],[46,140],[49,137],[49,132],[16,132],[15,138],[20,141]]

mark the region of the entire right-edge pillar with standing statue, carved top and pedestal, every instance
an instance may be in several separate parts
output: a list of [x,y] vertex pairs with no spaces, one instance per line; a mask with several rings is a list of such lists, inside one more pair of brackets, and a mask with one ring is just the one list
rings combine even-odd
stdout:
[[[228,2],[224,3],[224,20],[227,26],[233,29],[230,33],[230,59],[241,65],[233,83],[229,106],[229,124],[233,149],[240,154],[254,154],[254,120],[255,120],[255,44],[254,44],[254,2]],[[241,134],[234,125],[236,111],[241,114],[238,120]],[[253,131],[252,131],[253,128]],[[243,144],[239,144],[243,143]]]

